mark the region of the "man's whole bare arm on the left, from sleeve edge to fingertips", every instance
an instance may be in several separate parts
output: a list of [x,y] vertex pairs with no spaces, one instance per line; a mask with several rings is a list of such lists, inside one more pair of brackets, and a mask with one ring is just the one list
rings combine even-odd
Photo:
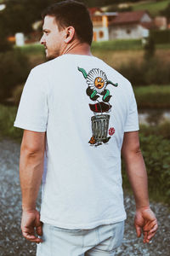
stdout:
[[45,151],[45,132],[24,131],[20,148],[20,187],[22,192],[21,230],[23,236],[34,242],[42,240],[40,214],[36,210],[36,201],[42,181],[43,159]]

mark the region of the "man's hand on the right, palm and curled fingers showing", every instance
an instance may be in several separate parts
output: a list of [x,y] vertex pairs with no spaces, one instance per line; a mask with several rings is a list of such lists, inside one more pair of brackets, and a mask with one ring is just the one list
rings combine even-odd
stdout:
[[156,230],[158,228],[156,216],[149,207],[136,210],[134,225],[138,237],[141,236],[141,233],[143,232],[144,243],[150,242],[150,239],[156,235]]

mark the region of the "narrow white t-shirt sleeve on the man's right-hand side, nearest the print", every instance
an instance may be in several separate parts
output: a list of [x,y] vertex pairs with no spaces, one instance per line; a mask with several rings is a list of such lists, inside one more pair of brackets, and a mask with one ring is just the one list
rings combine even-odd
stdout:
[[138,109],[135,100],[135,96],[133,93],[133,88],[131,85],[131,97],[129,102],[129,109],[127,113],[127,120],[125,124],[124,132],[127,131],[139,131],[139,116],[138,116]]

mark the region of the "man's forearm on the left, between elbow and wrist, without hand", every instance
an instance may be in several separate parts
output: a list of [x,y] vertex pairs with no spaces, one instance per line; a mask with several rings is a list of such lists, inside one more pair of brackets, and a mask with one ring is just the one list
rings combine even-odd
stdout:
[[30,153],[21,148],[20,152],[20,187],[22,208],[30,211],[36,208],[37,194],[42,180],[43,153]]

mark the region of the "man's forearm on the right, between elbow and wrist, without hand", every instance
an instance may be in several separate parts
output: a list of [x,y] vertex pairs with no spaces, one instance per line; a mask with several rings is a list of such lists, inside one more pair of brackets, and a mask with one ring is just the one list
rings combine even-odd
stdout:
[[133,189],[136,207],[149,207],[147,173],[141,152],[137,151],[127,154],[125,163],[127,176]]

